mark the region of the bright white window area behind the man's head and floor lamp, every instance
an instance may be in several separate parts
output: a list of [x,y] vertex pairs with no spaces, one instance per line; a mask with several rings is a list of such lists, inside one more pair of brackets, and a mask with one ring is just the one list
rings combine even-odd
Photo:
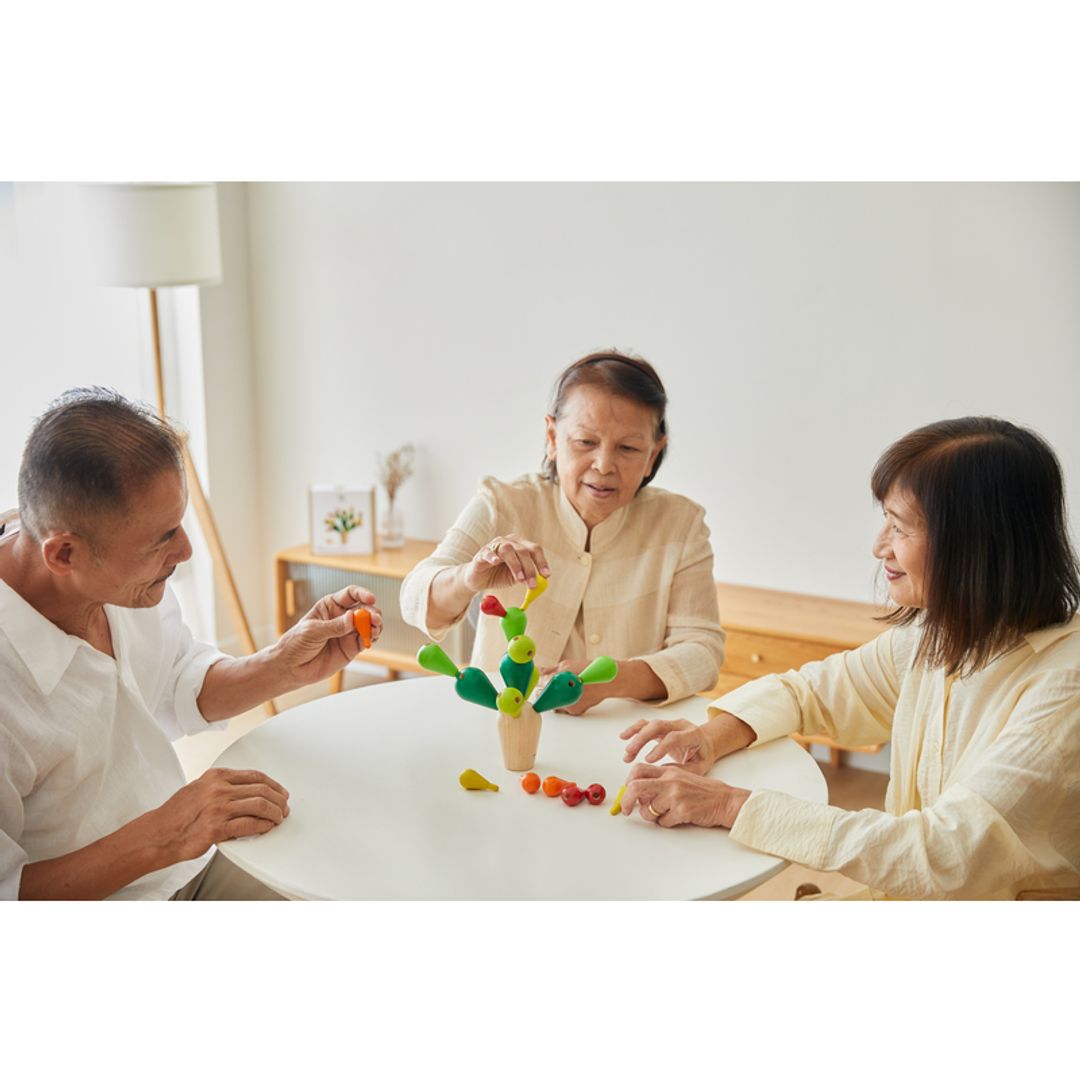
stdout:
[[[166,402],[206,470],[195,288],[159,296]],[[0,509],[17,502],[18,464],[35,417],[65,390],[105,386],[157,403],[145,289],[95,284],[83,192],[76,184],[0,184]],[[173,588],[201,637],[214,639],[208,554],[189,512],[195,554]]]

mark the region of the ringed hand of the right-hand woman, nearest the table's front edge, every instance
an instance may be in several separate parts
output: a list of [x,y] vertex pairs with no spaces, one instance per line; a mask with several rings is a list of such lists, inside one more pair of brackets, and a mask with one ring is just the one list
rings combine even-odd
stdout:
[[723,780],[699,777],[675,765],[635,765],[622,793],[622,812],[635,808],[664,828],[702,825],[731,828],[751,793]]

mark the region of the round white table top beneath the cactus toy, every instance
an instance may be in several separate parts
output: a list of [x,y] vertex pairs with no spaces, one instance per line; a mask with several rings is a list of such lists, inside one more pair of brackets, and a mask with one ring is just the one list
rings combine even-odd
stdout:
[[[221,852],[306,900],[688,900],[731,897],[786,864],[726,829],[660,828],[609,813],[630,769],[619,732],[643,716],[705,718],[707,701],[662,708],[609,700],[543,715],[534,771],[607,788],[603,806],[527,795],[502,767],[498,714],[448,678],[364,687],[275,716],[217,765],[260,769],[289,792],[289,816]],[[475,769],[499,792],[467,792]],[[789,739],[734,754],[712,775],[827,801],[816,764]]]

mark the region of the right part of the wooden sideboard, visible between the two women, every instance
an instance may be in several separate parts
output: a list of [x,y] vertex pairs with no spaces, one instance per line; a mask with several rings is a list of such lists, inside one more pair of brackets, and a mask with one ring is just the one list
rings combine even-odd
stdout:
[[[717,582],[716,598],[728,640],[719,680],[710,691],[712,697],[762,675],[786,672],[856,648],[887,629],[875,619],[883,609],[873,604],[723,582]],[[843,746],[819,735],[794,738],[802,745],[828,746],[834,765],[839,764],[840,751],[876,754],[881,748],[880,744]]]

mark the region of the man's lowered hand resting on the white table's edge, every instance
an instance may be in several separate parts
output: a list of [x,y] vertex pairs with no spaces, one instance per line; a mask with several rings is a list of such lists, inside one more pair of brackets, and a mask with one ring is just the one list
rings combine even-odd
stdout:
[[254,769],[211,769],[144,815],[167,863],[198,859],[212,845],[269,833],[288,816],[288,792]]

